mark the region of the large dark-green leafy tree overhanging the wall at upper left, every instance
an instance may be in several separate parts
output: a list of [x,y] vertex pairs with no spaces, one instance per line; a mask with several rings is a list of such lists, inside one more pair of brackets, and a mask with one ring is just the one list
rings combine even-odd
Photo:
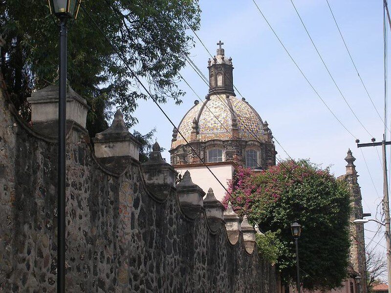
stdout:
[[[199,26],[197,0],[86,0],[91,17],[125,56],[135,74],[148,84],[154,99],[181,102],[177,75],[184,66],[183,54],[193,44],[186,34]],[[46,0],[0,0],[1,72],[11,99],[29,120],[26,98],[57,78],[58,27],[49,15]],[[128,126],[137,118],[131,113],[139,99],[148,99],[130,70],[80,8],[68,25],[68,80],[92,109],[87,117],[91,136],[107,127],[113,106],[121,108]]]

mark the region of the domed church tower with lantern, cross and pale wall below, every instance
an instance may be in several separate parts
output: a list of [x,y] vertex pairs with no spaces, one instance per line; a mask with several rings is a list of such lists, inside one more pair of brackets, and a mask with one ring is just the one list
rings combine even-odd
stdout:
[[225,187],[237,166],[265,169],[276,164],[272,132],[244,98],[236,97],[232,58],[225,57],[222,44],[217,43],[217,55],[208,60],[206,99],[196,100],[182,118],[180,134],[174,129],[170,149],[175,170],[189,170],[195,184],[204,190],[212,187],[218,200],[225,190],[203,162]]

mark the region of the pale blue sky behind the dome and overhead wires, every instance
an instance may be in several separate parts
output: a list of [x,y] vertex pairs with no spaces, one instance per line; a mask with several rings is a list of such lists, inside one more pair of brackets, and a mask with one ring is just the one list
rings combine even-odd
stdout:
[[[329,2],[361,77],[383,116],[383,1]],[[354,136],[361,142],[369,142],[371,136],[354,118],[332,83],[290,0],[257,0],[257,3],[327,105]],[[326,0],[296,0],[294,3],[345,98],[369,132],[380,141],[382,122],[354,71]],[[355,165],[360,175],[364,212],[371,212],[374,217],[380,198],[370,181],[354,138],[340,126],[305,82],[252,0],[201,0],[200,6],[202,14],[198,36],[212,54],[216,52],[216,43],[219,40],[224,42],[225,55],[232,57],[235,67],[234,83],[263,121],[267,120],[274,136],[291,157],[310,158],[323,166],[331,165],[332,172],[339,176],[345,173],[344,158],[348,148],[351,148],[357,158]],[[191,58],[207,75],[208,53],[195,41]],[[205,97],[208,88],[191,67],[184,68],[181,74],[201,98]],[[183,104],[177,106],[169,102],[163,105],[176,125],[197,99],[185,83],[180,86],[187,92]],[[238,93],[237,96],[240,98]],[[160,146],[170,148],[173,127],[152,101],[140,101],[135,115],[139,120],[136,130],[145,133],[156,127]],[[287,157],[277,144],[276,148],[279,158]],[[376,150],[364,148],[363,152],[379,196],[382,196],[382,170]],[[381,148],[378,152],[381,155]],[[169,162],[167,151],[164,156]],[[365,228],[377,230],[378,226],[368,223]],[[374,233],[365,233],[368,243]],[[370,247],[378,241],[376,250],[385,252],[381,247],[385,246],[383,232],[378,233]]]

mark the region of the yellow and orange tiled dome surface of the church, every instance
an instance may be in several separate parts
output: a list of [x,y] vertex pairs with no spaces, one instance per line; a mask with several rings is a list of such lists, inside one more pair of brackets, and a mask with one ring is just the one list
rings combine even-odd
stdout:
[[[233,110],[235,117],[228,107]],[[238,121],[235,122],[235,118]],[[269,128],[267,124],[263,124],[254,108],[243,100],[225,94],[210,95],[204,103],[196,103],[182,118],[178,126],[179,132],[188,142],[192,138],[194,140],[194,136],[191,136],[192,131],[196,131],[196,140],[200,142],[213,139],[229,140],[233,138],[233,128],[237,133],[235,139],[270,140],[270,136],[267,135]],[[173,139],[171,148],[174,149],[185,144],[185,140],[178,133],[176,140]]]

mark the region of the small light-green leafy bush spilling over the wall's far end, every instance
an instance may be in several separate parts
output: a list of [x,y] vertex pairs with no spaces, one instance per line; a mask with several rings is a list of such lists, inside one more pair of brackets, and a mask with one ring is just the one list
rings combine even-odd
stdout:
[[264,234],[256,235],[258,253],[271,264],[276,264],[282,255],[283,246],[279,238],[280,233],[281,230],[277,230],[276,232],[267,231]]

